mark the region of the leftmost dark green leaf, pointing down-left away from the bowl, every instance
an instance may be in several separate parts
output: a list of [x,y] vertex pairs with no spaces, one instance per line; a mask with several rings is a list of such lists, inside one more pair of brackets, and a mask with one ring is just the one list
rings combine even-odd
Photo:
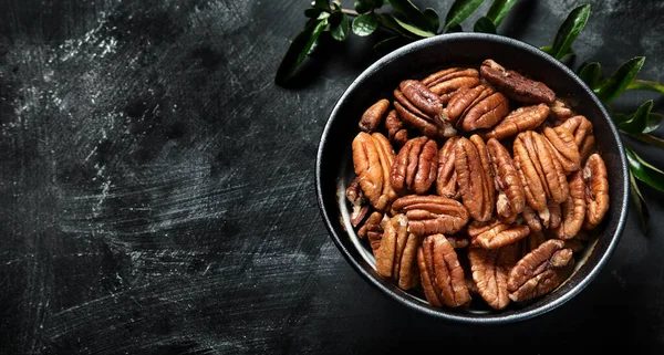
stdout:
[[304,30],[295,36],[277,70],[277,75],[274,76],[277,84],[282,84],[302,64],[307,53],[309,53],[309,50],[319,35],[321,35],[326,24],[328,20],[310,21],[304,27]]

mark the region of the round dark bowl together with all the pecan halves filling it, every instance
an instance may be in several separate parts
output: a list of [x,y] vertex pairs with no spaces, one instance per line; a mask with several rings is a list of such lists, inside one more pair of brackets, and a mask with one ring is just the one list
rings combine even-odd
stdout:
[[350,264],[398,303],[465,323],[570,300],[626,216],[602,104],[552,56],[492,34],[417,41],[365,70],[330,115],[315,173]]

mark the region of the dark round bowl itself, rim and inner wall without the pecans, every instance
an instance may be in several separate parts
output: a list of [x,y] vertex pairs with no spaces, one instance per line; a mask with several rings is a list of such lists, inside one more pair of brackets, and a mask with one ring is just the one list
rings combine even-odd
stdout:
[[[577,259],[571,278],[553,292],[525,305],[510,305],[501,312],[484,307],[469,310],[436,309],[418,295],[405,292],[374,269],[374,259],[349,220],[345,188],[352,180],[351,142],[359,132],[357,122],[366,107],[392,91],[405,79],[423,79],[433,71],[454,64],[477,65],[494,59],[546,83],[561,97],[575,103],[579,114],[593,126],[602,157],[606,163],[611,207],[599,227],[596,239],[585,254]],[[609,114],[592,91],[567,66],[529,44],[492,34],[455,33],[437,35],[406,45],[366,69],[343,93],[323,130],[317,165],[318,201],[325,226],[349,263],[378,290],[398,303],[435,317],[471,324],[497,324],[527,320],[549,312],[581,292],[600,272],[620,239],[627,210],[627,166],[623,146]]]

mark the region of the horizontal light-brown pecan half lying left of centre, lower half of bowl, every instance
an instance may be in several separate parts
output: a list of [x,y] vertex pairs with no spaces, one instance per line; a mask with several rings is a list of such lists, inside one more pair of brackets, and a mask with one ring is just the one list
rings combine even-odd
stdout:
[[456,233],[468,223],[464,205],[440,196],[408,195],[392,203],[396,213],[406,213],[408,231],[418,236]]

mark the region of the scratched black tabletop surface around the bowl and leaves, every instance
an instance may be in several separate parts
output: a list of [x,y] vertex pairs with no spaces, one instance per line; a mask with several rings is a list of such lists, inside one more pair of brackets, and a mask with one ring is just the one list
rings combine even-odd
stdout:
[[[664,80],[664,4],[590,2],[577,60],[611,72],[643,54],[641,77]],[[0,1],[0,353],[549,354],[627,343],[661,354],[664,205],[647,188],[652,232],[632,211],[595,281],[533,321],[446,324],[355,274],[320,219],[313,166],[326,115],[377,59],[364,45],[376,40],[326,41],[334,53],[276,86],[305,3]],[[522,0],[501,33],[549,44],[578,3]]]

